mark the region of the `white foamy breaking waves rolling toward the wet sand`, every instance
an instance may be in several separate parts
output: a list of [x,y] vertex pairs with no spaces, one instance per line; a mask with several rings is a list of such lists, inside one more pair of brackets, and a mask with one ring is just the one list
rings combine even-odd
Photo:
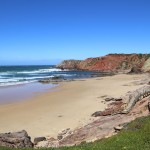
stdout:
[[[7,71],[7,72],[1,72],[0,73],[0,86],[10,86],[10,85],[18,85],[18,84],[25,84],[30,82],[38,81],[39,79],[44,78],[51,78],[54,76],[74,76],[76,74],[65,74],[61,73],[61,69],[56,68],[49,68],[49,69],[39,69],[35,71]],[[63,70],[68,71],[68,70]],[[59,72],[57,74],[57,72]],[[52,75],[48,75],[51,73]],[[21,74],[24,74],[23,76]],[[28,77],[27,75],[30,75],[31,77]],[[38,76],[40,75],[40,76]],[[17,77],[16,77],[17,76]]]

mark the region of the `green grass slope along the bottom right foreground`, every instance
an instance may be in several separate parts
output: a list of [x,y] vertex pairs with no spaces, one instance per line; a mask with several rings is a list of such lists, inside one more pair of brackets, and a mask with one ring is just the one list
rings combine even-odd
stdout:
[[[10,150],[10,148],[0,148]],[[31,150],[31,149],[25,149]],[[80,146],[42,150],[150,150],[150,116],[129,123],[117,135]]]

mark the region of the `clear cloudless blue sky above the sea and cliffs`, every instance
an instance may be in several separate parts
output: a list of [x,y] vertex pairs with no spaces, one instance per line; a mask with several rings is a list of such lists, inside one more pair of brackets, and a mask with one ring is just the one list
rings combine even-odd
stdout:
[[0,65],[150,53],[150,0],[0,0]]

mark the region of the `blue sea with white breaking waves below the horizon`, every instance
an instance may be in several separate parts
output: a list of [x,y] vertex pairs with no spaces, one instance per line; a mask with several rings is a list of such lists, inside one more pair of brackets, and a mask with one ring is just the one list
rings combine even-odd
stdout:
[[13,86],[37,82],[44,78],[62,76],[65,79],[88,78],[93,72],[69,71],[55,66],[0,66],[0,86]]

